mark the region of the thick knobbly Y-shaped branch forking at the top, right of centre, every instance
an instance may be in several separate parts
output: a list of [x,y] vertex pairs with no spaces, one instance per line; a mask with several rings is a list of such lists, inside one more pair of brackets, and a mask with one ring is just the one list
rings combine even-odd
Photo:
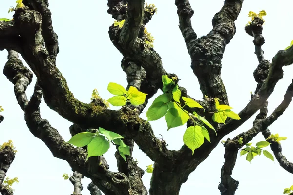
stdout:
[[243,0],[226,0],[223,8],[213,20],[213,30],[199,39],[191,27],[190,18],[193,10],[188,0],[176,0],[180,30],[184,36],[188,53],[191,57],[191,68],[197,76],[203,95],[219,98],[229,105],[227,93],[221,75],[221,60],[226,45],[233,38],[237,19]]

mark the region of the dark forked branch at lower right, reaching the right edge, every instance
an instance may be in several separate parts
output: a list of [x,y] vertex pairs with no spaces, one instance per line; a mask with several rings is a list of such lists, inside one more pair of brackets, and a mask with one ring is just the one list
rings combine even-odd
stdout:
[[[219,185],[219,189],[222,195],[234,195],[238,186],[238,181],[235,181],[232,177],[232,170],[235,166],[237,152],[238,149],[243,147],[249,141],[252,140],[259,132],[262,131],[265,138],[268,138],[271,133],[269,131],[268,126],[270,126],[274,121],[280,117],[286,108],[289,106],[293,97],[293,80],[289,85],[282,103],[272,112],[269,117],[267,116],[267,103],[263,108],[260,109],[260,113],[256,116],[255,121],[253,122],[253,127],[247,132],[241,133],[236,136],[233,141],[228,139],[225,143],[225,163],[221,170],[221,183]],[[243,143],[237,144],[239,138],[242,138]],[[293,173],[293,163],[287,161],[286,157],[282,154],[282,147],[278,142],[268,140],[271,144],[271,149],[274,152],[274,155],[281,167],[283,167],[286,171]],[[230,156],[230,157],[228,157]],[[235,158],[231,157],[234,156]],[[227,158],[226,158],[227,157]],[[237,185],[235,185],[237,183]]]

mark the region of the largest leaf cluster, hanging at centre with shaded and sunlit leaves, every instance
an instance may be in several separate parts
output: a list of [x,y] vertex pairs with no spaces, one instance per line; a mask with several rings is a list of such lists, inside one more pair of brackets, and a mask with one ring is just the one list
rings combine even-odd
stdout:
[[[199,148],[204,143],[204,138],[209,142],[209,132],[206,127],[213,128],[213,126],[204,118],[199,116],[196,112],[189,113],[184,107],[187,105],[190,108],[204,109],[199,103],[193,99],[182,97],[184,105],[181,106],[181,91],[175,82],[176,78],[168,78],[167,75],[162,76],[163,94],[158,96],[146,112],[148,121],[158,120],[165,116],[168,130],[174,127],[184,125],[188,119],[193,120],[194,126],[186,129],[183,136],[184,144],[192,150],[192,154],[196,148]],[[198,121],[194,120],[197,118]]]

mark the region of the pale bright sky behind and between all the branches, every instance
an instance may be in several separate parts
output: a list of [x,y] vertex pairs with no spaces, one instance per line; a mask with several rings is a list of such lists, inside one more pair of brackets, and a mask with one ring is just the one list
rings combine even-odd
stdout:
[[[0,18],[12,18],[7,11],[10,6],[15,6],[15,0],[1,0]],[[180,86],[188,90],[193,98],[201,100],[202,93],[196,76],[193,74],[190,64],[191,59],[185,46],[184,39],[179,30],[179,20],[175,0],[146,0],[154,3],[158,13],[146,25],[147,31],[154,38],[154,49],[162,57],[163,66],[168,73],[175,73],[181,79]],[[212,29],[211,20],[216,12],[223,6],[223,0],[190,0],[194,10],[192,26],[198,37],[206,35]],[[265,10],[265,24],[263,36],[265,44],[263,50],[266,59],[272,61],[272,57],[279,51],[290,45],[293,40],[291,19],[293,18],[292,0],[245,0],[242,11],[236,20],[236,34],[227,45],[222,60],[222,79],[224,81],[230,106],[234,112],[239,112],[250,100],[250,92],[254,92],[256,82],[253,71],[258,65],[254,54],[253,38],[245,33],[245,24],[250,21],[247,17],[249,11],[259,12]],[[57,57],[57,66],[67,79],[70,90],[75,98],[83,102],[90,102],[92,90],[97,88],[104,99],[112,95],[106,90],[109,82],[116,82],[127,86],[126,74],[121,69],[122,55],[111,43],[108,28],[114,19],[107,14],[106,0],[49,0],[49,8],[52,12],[53,27],[58,34],[60,53]],[[0,52],[0,67],[4,67],[7,61],[7,52]],[[284,93],[293,78],[293,65],[284,67],[284,78],[280,80],[269,101],[269,114],[281,103]],[[33,82],[27,89],[28,98],[33,93]],[[19,183],[13,184],[15,195],[66,195],[73,192],[73,185],[69,180],[63,180],[63,173],[72,174],[66,161],[53,157],[45,144],[34,137],[28,130],[24,114],[17,104],[13,84],[0,74],[0,105],[5,109],[1,114],[5,117],[0,124],[0,144],[12,139],[17,149],[15,160],[7,172],[7,176],[18,177]],[[160,95],[154,96],[150,102]],[[147,109],[148,107],[146,107]],[[111,109],[119,109],[111,106]],[[288,137],[282,141],[283,154],[293,162],[293,132],[290,126],[293,105],[289,105],[284,114],[270,126],[271,133],[279,133]],[[47,119],[68,141],[71,137],[69,126],[71,122],[60,117],[55,111],[42,102],[41,117]],[[146,119],[145,113],[141,117]],[[234,132],[224,137],[234,138],[243,131],[252,127],[255,115]],[[168,148],[178,150],[183,145],[183,134],[186,126],[173,128],[167,131],[164,119],[151,121],[152,128],[157,137],[163,135],[168,143]],[[260,134],[251,141],[257,143],[264,140]],[[269,151],[271,149],[267,148]],[[114,157],[115,147],[111,146],[105,154],[110,170],[117,171]],[[191,152],[191,151],[190,151]],[[220,171],[224,163],[224,147],[219,144],[190,174],[186,183],[181,187],[180,195],[194,194],[220,195],[217,189],[220,182]],[[135,147],[133,157],[138,160],[141,168],[153,162]],[[269,160],[265,156],[256,156],[251,163],[245,160],[245,156],[239,156],[236,161],[232,177],[239,181],[236,195],[249,194],[282,194],[284,188],[293,185],[293,175],[281,168],[278,162]],[[143,181],[149,189],[151,174],[145,173]],[[82,179],[83,195],[90,195],[87,190],[89,179]]]

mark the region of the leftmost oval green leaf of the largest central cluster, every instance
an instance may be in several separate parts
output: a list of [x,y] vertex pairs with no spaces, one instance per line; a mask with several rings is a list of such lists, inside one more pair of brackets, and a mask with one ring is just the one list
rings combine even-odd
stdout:
[[152,104],[146,112],[147,120],[158,120],[166,115],[168,110],[168,105],[164,102],[156,102]]

